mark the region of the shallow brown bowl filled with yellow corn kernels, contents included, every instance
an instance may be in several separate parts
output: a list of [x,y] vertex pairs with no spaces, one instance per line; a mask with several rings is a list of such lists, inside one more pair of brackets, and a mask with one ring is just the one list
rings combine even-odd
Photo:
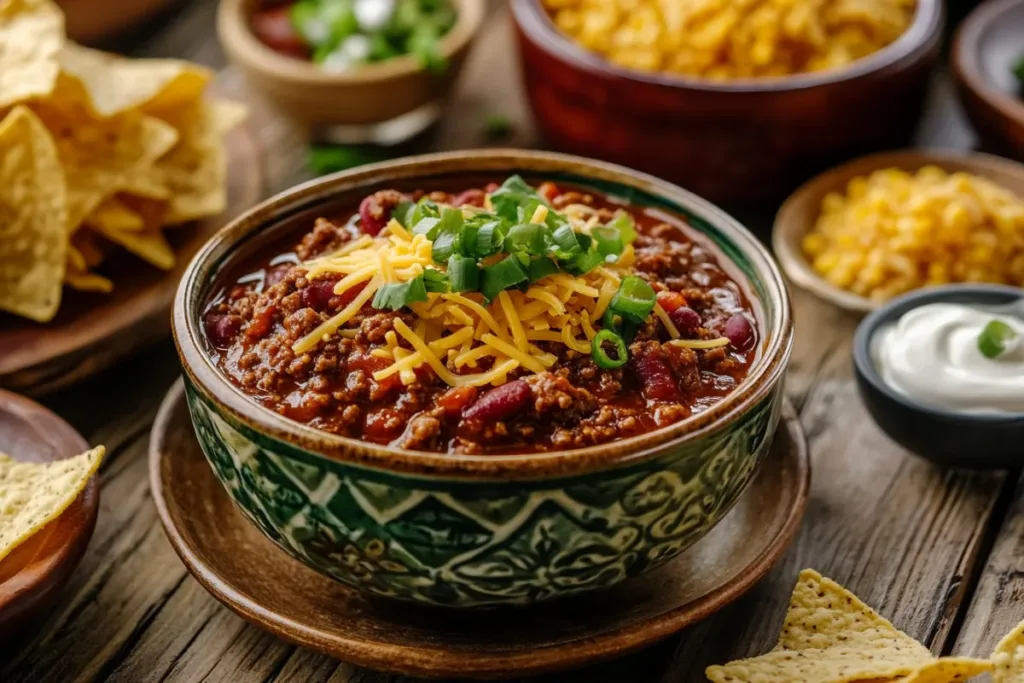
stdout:
[[930,151],[863,157],[794,193],[772,243],[794,284],[858,312],[927,287],[1024,287],[1024,164]]

